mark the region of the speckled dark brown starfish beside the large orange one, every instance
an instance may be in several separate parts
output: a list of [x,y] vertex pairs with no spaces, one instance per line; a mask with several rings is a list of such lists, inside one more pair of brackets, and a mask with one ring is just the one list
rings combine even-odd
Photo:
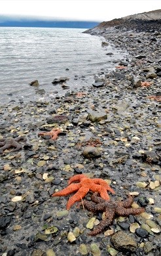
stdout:
[[136,215],[139,213],[143,213],[145,211],[144,208],[134,209],[130,207],[132,202],[134,201],[132,196],[128,195],[128,199],[125,201],[107,201],[98,196],[98,193],[94,193],[91,196],[91,200],[94,202],[89,202],[84,200],[83,205],[88,209],[88,211],[92,211],[96,213],[98,211],[105,211],[105,219],[101,221],[101,223],[92,230],[92,232],[88,233],[90,236],[96,236],[97,234],[105,231],[108,226],[113,223],[115,219],[115,215],[118,216],[128,216],[130,214]]

